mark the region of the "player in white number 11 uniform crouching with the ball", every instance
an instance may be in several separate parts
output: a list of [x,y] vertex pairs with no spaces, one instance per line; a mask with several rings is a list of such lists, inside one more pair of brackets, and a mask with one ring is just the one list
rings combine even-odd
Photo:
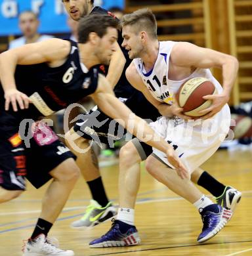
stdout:
[[[224,140],[230,126],[228,102],[238,72],[238,61],[227,54],[196,47],[190,43],[158,41],[156,18],[148,9],[141,9],[122,19],[123,47],[133,62],[127,68],[127,79],[157,108],[164,108],[165,116],[152,127],[173,145],[180,160],[190,173],[198,169]],[[209,68],[222,68],[223,89]],[[186,120],[182,110],[173,104],[173,95],[180,85],[192,77],[205,77],[216,87],[218,95],[205,96],[212,106],[202,110],[206,120]],[[180,118],[179,118],[180,117]],[[186,131],[190,133],[186,133]],[[209,240],[230,219],[230,211],[214,204],[192,184],[180,179],[167,158],[138,139],[128,142],[120,152],[119,210],[112,228],[91,247],[139,244],[134,224],[134,207],[140,181],[140,161],[159,182],[179,194],[200,211],[203,229],[198,242]],[[133,182],[135,181],[135,182]]]

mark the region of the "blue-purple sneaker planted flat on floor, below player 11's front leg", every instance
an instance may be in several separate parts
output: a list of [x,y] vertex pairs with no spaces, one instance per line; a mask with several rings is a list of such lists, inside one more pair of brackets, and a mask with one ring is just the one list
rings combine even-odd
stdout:
[[[121,228],[122,226],[123,228]],[[117,247],[137,244],[140,244],[137,228],[122,221],[112,219],[110,230],[104,236],[90,242],[89,247]]]

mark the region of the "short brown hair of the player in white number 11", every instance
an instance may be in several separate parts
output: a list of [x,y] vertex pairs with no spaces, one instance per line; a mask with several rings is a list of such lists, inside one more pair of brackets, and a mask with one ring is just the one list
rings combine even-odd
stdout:
[[156,39],[158,37],[155,15],[148,8],[123,15],[121,26],[134,26],[136,33],[146,30],[152,38]]

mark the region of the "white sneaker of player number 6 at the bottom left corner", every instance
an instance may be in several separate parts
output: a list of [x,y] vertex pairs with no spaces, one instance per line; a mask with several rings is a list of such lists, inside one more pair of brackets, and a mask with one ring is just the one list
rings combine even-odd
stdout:
[[28,240],[23,249],[23,256],[73,256],[74,251],[64,250],[56,247],[53,244],[49,244],[44,234],[40,234],[33,240]]

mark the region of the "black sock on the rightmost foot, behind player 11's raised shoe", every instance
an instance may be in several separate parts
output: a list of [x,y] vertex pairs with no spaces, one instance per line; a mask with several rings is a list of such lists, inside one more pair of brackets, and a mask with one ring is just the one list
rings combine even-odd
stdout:
[[198,185],[205,188],[207,191],[209,191],[213,196],[216,198],[218,196],[221,196],[226,188],[222,183],[217,181],[214,177],[209,175],[206,171],[204,171],[200,179],[198,180]]

